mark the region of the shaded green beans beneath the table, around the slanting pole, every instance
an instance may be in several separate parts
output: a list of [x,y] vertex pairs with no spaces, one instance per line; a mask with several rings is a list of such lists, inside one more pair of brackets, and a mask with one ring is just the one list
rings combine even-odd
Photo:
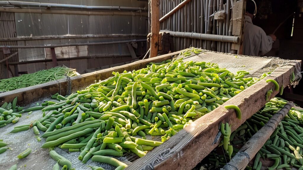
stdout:
[[[276,89],[275,89],[276,90]],[[273,114],[279,112],[288,101],[282,98],[272,98],[266,105],[257,113],[252,115],[244,124],[230,135],[230,141],[233,145],[234,156],[247,142],[252,135],[258,132],[265,123],[272,117]],[[288,114],[282,119],[274,133],[270,136],[267,142],[258,151],[254,164],[247,166],[246,169],[261,169],[261,158],[272,160],[273,165],[268,167],[269,170],[285,168],[303,169],[303,110],[291,108]],[[222,132],[221,125],[221,132]],[[223,129],[224,130],[224,129]],[[223,133],[222,133],[223,134]],[[223,142],[220,145],[225,145]],[[223,167],[230,160],[225,155],[219,155],[221,147],[212,151],[205,160],[208,160],[211,165],[208,169]]]

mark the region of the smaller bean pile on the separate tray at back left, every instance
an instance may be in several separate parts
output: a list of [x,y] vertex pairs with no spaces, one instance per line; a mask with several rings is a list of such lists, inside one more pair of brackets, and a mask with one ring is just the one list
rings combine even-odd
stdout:
[[2,79],[0,80],[0,93],[58,80],[64,78],[65,75],[69,77],[75,76],[76,69],[54,67],[31,74],[23,74],[19,77]]

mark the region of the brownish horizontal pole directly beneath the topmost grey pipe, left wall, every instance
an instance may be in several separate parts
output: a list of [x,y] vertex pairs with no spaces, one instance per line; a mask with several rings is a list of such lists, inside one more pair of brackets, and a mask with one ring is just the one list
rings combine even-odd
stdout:
[[0,7],[1,12],[38,13],[38,14],[68,14],[68,15],[133,15],[147,16],[147,12],[134,11],[87,11],[87,10],[57,10]]

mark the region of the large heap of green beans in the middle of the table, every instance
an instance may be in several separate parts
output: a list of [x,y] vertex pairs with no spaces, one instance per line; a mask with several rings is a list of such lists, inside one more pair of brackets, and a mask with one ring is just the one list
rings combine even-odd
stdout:
[[[58,102],[28,108],[41,109],[43,117],[18,130],[33,127],[36,135],[39,130],[45,132],[42,148],[80,152],[83,163],[92,157],[123,169],[126,164],[107,156],[146,155],[267,75],[247,78],[245,71],[234,75],[215,63],[183,62],[182,58],[112,74],[75,94],[53,95]],[[238,107],[227,109],[236,109],[241,118]],[[161,142],[147,140],[146,135],[161,136]]]

